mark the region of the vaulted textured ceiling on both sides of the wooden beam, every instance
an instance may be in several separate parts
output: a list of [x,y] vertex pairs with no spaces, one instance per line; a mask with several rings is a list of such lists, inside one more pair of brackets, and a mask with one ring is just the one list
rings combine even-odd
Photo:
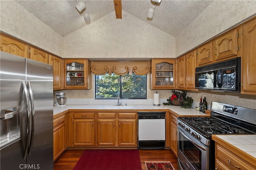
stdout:
[[[90,15],[91,22],[114,11],[113,0],[81,1],[86,5],[85,12]],[[75,8],[76,0],[16,0],[16,2],[62,36],[86,26],[83,14]],[[156,4],[151,21],[147,20],[148,9],[154,5],[150,0],[122,0],[122,10],[176,37],[211,2],[212,0],[162,0],[161,3]]]

